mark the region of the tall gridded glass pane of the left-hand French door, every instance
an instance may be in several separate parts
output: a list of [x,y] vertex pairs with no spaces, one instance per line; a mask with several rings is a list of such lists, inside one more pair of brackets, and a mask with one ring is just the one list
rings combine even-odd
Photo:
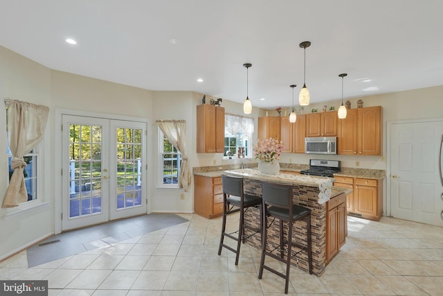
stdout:
[[69,127],[69,218],[102,211],[102,128]]

